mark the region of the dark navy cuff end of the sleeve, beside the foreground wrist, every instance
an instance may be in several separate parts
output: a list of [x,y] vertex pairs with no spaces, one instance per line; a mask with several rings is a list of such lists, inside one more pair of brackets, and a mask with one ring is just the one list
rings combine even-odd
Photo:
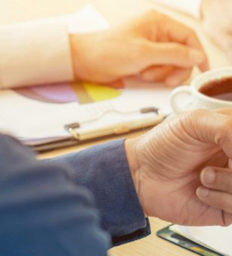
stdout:
[[47,161],[68,164],[75,175],[75,183],[93,192],[101,212],[101,227],[111,234],[113,245],[151,233],[132,182],[124,140]]

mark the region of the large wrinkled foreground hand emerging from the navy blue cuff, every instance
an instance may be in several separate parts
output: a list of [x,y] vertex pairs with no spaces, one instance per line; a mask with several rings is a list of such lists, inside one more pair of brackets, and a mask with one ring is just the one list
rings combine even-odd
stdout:
[[[230,115],[231,110],[194,110],[126,141],[136,191],[148,216],[182,225],[232,223],[232,171],[224,169],[232,159]],[[216,178],[206,183],[210,166]],[[211,188],[208,197],[200,196],[202,183]]]

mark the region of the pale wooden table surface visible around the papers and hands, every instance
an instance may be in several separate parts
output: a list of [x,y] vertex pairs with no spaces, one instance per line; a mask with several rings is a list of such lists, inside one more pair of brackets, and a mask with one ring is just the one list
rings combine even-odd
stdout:
[[[174,0],[175,1],[175,0]],[[174,12],[170,9],[164,9],[164,7],[155,6],[152,0],[9,0],[2,1],[0,9],[0,24],[11,24],[13,22],[26,21],[30,19],[36,19],[39,17],[48,16],[58,16],[60,14],[67,14],[69,12],[77,11],[80,7],[84,6],[87,2],[94,4],[94,6],[100,11],[103,16],[111,24],[116,24],[118,22],[123,22],[125,19],[129,19],[135,14],[144,12],[147,9],[156,7],[160,11],[163,11],[175,19],[183,21],[188,26],[192,26],[202,39],[205,45],[206,52],[210,55],[210,62],[212,67],[223,67],[228,66],[229,62],[225,55],[222,54],[215,45],[213,45],[205,33],[200,27],[200,22],[194,21],[192,17]],[[129,12],[128,12],[129,10]],[[132,136],[137,136],[141,133],[133,133],[126,135],[124,137],[131,138]],[[106,140],[103,140],[106,141]],[[102,142],[103,142],[102,141]],[[58,156],[60,154],[65,154],[73,151],[78,151],[85,147],[91,146],[91,144],[86,144],[85,146],[76,146],[67,149],[61,149],[53,151],[51,153],[42,154],[39,158],[48,158],[53,156]],[[157,206],[159,207],[159,206]],[[164,222],[159,219],[151,218],[152,234],[146,239],[141,239],[130,244],[121,245],[109,251],[110,255],[176,255],[176,256],[188,256],[194,255],[187,250],[183,250],[180,247],[165,242],[162,239],[156,237],[155,233],[157,230],[162,229],[169,223]]]

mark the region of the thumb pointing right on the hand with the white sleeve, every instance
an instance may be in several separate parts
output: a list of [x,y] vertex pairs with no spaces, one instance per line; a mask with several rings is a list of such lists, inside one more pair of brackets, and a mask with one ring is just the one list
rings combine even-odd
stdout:
[[172,65],[175,67],[193,67],[206,60],[204,52],[178,43],[147,44],[148,65]]

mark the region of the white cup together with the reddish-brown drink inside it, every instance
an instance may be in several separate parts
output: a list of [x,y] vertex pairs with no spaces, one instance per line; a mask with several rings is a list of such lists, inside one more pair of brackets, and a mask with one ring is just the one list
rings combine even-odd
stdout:
[[180,107],[180,95],[192,98],[190,108],[232,108],[232,68],[202,73],[190,86],[176,88],[171,95],[171,106],[175,113],[188,107]]

